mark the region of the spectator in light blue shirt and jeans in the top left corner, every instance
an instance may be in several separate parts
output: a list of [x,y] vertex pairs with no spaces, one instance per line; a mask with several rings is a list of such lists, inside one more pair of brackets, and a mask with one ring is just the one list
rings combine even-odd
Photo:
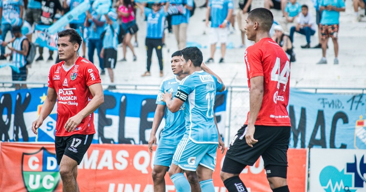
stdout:
[[[11,31],[11,21],[15,18],[23,18],[23,0],[1,0],[0,1],[0,20],[1,20],[1,40],[4,41],[8,31]],[[22,25],[22,24],[20,24]],[[5,60],[5,47],[0,46],[0,60]]]

